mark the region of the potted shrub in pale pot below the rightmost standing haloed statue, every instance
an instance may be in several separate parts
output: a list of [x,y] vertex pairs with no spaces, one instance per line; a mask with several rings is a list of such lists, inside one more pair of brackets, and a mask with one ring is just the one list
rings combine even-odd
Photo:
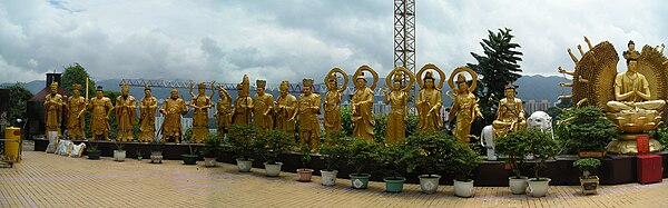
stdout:
[[472,197],[475,195],[473,186],[473,171],[480,166],[481,159],[473,149],[465,143],[453,142],[446,157],[450,164],[450,171],[454,174],[453,186],[454,195],[458,197]]

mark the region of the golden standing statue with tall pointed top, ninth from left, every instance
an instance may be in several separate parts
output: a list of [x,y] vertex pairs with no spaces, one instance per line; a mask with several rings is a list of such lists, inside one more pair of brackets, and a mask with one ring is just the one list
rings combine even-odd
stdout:
[[244,75],[242,83],[237,85],[237,98],[234,100],[232,116],[233,125],[250,125],[253,120],[253,99],[250,99],[250,83],[248,76]]

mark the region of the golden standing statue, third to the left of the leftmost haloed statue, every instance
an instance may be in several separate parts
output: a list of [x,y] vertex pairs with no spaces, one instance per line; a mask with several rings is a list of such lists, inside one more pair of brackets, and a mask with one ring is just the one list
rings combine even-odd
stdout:
[[253,96],[253,123],[259,130],[274,129],[274,96],[265,93],[266,80],[255,80],[256,93]]

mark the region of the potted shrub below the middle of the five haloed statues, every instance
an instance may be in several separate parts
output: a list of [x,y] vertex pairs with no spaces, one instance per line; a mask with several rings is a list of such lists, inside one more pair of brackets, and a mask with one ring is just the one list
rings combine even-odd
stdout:
[[391,145],[387,147],[377,146],[376,164],[377,171],[384,176],[385,190],[387,192],[403,191],[403,185],[406,181],[405,175],[410,157],[416,151],[415,148],[406,145]]

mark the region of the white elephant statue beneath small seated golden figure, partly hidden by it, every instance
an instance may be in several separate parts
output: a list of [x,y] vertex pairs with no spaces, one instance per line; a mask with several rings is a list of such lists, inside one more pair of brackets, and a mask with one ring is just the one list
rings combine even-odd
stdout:
[[[540,128],[543,132],[550,133],[554,139],[554,132],[552,131],[552,117],[543,111],[536,111],[531,113],[531,117],[527,119],[527,128]],[[492,126],[485,126],[482,128],[480,133],[480,145],[487,148],[487,160],[497,160],[497,146],[494,145],[494,133]]]

